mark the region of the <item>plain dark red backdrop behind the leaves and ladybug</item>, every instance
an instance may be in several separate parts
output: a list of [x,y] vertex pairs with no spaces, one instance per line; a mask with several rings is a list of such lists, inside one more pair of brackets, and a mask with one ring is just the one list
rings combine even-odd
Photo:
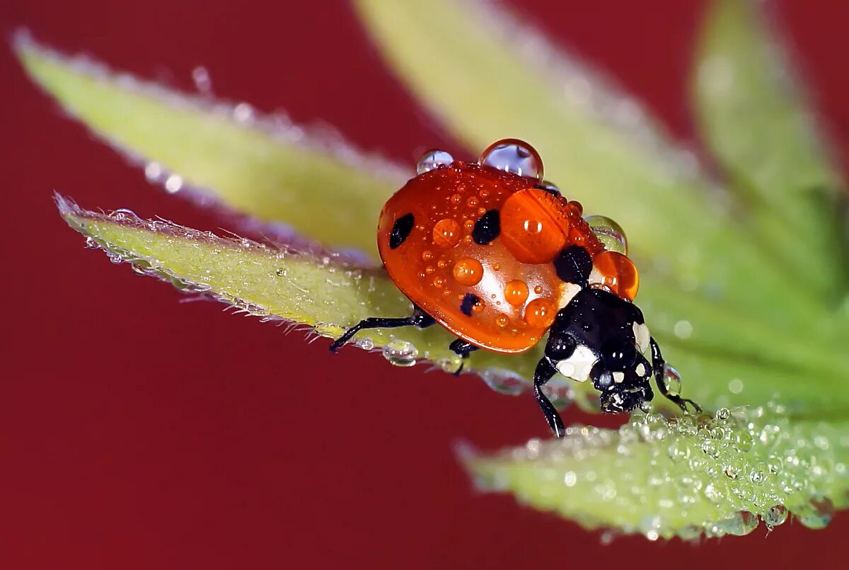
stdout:
[[[846,141],[849,3],[778,4],[820,109]],[[526,3],[531,20],[688,139],[701,8]],[[219,96],[327,121],[399,161],[424,146],[456,150],[343,2],[6,0],[0,25],[7,37],[25,25],[56,47],[186,89],[205,65]],[[845,514],[824,531],[789,522],[766,539],[760,528],[698,547],[638,537],[603,546],[600,533],[475,494],[452,444],[493,449],[545,435],[530,398],[357,350],[331,358],[327,341],[306,345],[216,303],[178,303],[177,291],[84,250],[56,215],[53,189],[87,207],[222,222],[149,187],[65,120],[8,48],[0,85],[0,567],[797,567],[839,556]]]

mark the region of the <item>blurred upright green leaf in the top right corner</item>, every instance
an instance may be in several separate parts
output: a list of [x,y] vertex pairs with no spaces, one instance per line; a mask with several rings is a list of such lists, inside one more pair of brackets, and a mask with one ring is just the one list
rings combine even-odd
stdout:
[[818,295],[845,292],[845,184],[778,35],[748,0],[711,3],[694,74],[701,132],[749,201],[751,225]]

